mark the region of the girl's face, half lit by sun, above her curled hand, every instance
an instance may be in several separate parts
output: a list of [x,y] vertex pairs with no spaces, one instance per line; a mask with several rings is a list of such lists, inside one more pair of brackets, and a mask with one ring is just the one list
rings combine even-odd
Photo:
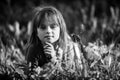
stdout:
[[37,34],[42,43],[55,43],[60,36],[60,27],[55,15],[50,15],[42,19],[40,26],[37,28]]

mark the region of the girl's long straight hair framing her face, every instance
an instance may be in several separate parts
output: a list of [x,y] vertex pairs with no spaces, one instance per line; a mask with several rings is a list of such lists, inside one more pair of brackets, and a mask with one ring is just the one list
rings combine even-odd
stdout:
[[57,10],[53,6],[41,6],[37,7],[34,9],[34,16],[32,20],[32,34],[31,37],[28,41],[28,46],[32,43],[36,43],[37,39],[37,27],[40,26],[41,20],[45,17],[45,15],[55,15],[58,21],[58,25],[60,27],[60,38],[58,40],[58,45],[61,47],[63,50],[66,50],[68,39],[70,38],[67,30],[66,30],[66,24],[63,19],[63,16],[59,10]]

